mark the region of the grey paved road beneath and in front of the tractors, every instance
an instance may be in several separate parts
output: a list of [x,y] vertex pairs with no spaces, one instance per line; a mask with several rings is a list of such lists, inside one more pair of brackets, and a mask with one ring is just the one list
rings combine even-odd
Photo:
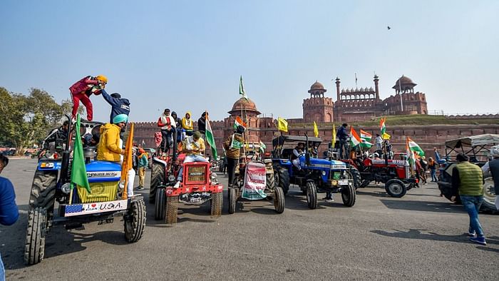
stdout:
[[[2,173],[16,185],[21,218],[0,227],[0,252],[8,280],[497,280],[499,216],[480,215],[486,247],[470,244],[468,215],[438,196],[436,185],[403,198],[384,189],[361,189],[353,208],[341,198],[309,210],[299,190],[286,210],[272,203],[245,203],[234,215],[210,218],[209,205],[187,208],[168,227],[148,207],[145,233],[127,244],[123,223],[55,228],[46,257],[23,264],[26,204],[35,161],[11,160]],[[149,177],[149,174],[148,174]],[[148,178],[149,179],[149,178]],[[221,176],[222,182],[227,178]],[[148,186],[145,196],[147,198]]]

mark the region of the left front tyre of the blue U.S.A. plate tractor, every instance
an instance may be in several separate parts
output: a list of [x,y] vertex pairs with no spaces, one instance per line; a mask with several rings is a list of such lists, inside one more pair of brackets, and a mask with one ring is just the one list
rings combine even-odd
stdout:
[[36,265],[45,255],[45,234],[47,211],[45,208],[34,208],[28,213],[26,228],[26,244],[24,245],[24,263]]

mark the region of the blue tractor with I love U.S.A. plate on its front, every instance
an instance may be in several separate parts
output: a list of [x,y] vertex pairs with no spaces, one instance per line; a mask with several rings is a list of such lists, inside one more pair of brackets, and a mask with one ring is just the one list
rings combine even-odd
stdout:
[[[34,265],[43,260],[45,237],[56,224],[66,229],[80,228],[83,223],[112,223],[123,215],[125,240],[140,240],[145,228],[145,204],[140,196],[123,199],[120,193],[120,163],[94,160],[100,128],[103,123],[82,121],[81,136],[90,192],[79,185],[71,188],[74,130],[68,123],[69,136],[54,138],[53,151],[43,155],[36,166],[29,196],[28,225],[24,262]],[[72,136],[72,137],[71,137]],[[48,156],[48,157],[47,157]]]

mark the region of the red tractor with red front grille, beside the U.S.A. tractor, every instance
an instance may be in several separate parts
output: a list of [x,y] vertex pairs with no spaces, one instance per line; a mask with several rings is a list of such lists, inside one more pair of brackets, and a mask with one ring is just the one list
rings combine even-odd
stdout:
[[[155,220],[166,218],[166,223],[177,223],[179,203],[201,205],[209,200],[211,215],[220,217],[223,186],[210,170],[210,163],[183,163],[185,154],[178,157],[176,154],[174,145],[171,155],[153,156],[149,201],[155,203]],[[173,188],[180,168],[183,168],[182,182],[179,188]]]

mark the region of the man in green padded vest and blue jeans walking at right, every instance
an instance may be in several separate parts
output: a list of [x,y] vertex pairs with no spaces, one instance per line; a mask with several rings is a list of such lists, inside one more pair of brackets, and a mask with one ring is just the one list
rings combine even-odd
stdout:
[[464,153],[459,153],[456,160],[459,163],[452,170],[452,188],[455,195],[451,200],[456,201],[456,196],[459,194],[461,203],[470,216],[468,228],[470,241],[487,245],[482,225],[478,220],[478,210],[483,203],[483,172],[478,165],[470,163],[468,155]]

